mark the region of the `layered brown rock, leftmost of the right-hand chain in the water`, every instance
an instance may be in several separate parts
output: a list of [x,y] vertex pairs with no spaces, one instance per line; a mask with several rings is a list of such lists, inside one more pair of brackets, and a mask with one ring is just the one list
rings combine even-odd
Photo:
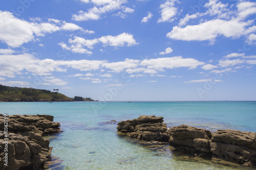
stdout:
[[133,120],[119,122],[117,129],[119,135],[127,135],[145,141],[167,142],[167,126],[163,124],[163,117],[142,115]]

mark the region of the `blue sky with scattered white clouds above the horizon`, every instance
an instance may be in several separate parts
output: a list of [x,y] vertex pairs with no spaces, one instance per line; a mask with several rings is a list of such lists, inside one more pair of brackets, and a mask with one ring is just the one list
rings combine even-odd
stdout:
[[100,101],[256,101],[256,3],[0,2],[0,84]]

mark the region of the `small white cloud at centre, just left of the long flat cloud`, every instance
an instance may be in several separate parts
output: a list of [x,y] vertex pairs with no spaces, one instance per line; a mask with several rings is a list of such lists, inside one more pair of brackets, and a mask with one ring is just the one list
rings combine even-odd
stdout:
[[113,72],[120,72],[126,68],[135,68],[138,66],[139,60],[125,59],[120,62],[103,63],[102,67],[112,69]]

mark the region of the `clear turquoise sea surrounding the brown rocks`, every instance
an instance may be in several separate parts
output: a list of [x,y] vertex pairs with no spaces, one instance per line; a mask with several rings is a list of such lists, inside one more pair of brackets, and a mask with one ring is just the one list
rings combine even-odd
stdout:
[[[24,102],[0,103],[2,114],[49,114],[62,133],[47,136],[49,169],[255,169],[222,165],[150,146],[117,134],[117,123],[140,115],[164,117],[167,127],[256,132],[256,101]],[[111,121],[115,120],[115,121]]]

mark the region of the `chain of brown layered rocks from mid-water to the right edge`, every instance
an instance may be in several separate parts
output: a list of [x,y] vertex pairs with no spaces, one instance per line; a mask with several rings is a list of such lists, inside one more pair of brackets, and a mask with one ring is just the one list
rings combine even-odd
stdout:
[[[256,133],[180,125],[167,129],[163,117],[142,115],[118,123],[118,134],[145,141],[168,142],[175,151],[243,166],[256,166]],[[174,152],[175,152],[174,151]]]

